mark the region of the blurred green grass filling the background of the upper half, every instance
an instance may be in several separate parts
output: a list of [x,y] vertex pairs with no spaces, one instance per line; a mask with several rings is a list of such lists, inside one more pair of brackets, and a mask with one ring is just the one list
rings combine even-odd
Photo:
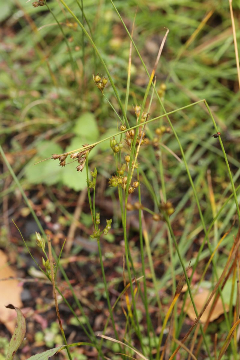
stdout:
[[[10,10],[5,12],[6,16],[2,19],[4,71],[0,74],[3,114],[0,141],[5,146],[6,152],[14,158],[13,167],[22,177],[23,186],[30,187],[30,177],[24,177],[27,172],[24,166],[29,169],[32,163],[31,150],[36,152],[36,149],[41,148],[42,141],[51,139],[53,143],[60,144],[64,151],[71,138],[76,135],[74,126],[80,114],[94,113],[103,137],[109,129],[114,127],[117,129],[116,116],[92,81],[92,73],[105,75],[99,60],[93,55],[87,40],[84,39],[82,42],[81,30],[69,14],[52,1],[48,4],[69,41],[74,64],[71,62],[63,34],[46,6],[33,8],[31,2],[14,1],[8,5]],[[114,4],[130,30],[137,2],[116,1]],[[77,16],[81,15],[76,1],[69,1],[68,5]],[[87,1],[85,4],[83,1],[83,5],[93,39],[107,62],[123,100],[129,39],[110,3],[96,4],[94,1]],[[169,28],[167,42],[157,69],[157,87],[162,82],[167,86],[164,98],[166,110],[172,111],[196,100],[207,99],[225,141],[237,181],[240,175],[237,171],[240,105],[228,4],[221,1],[140,1],[138,5],[133,39],[149,72],[155,62],[165,32],[164,28]],[[5,5],[1,6],[0,10],[4,13]],[[210,11],[213,14],[185,49],[186,41]],[[238,3],[235,4],[234,12],[237,18]],[[239,35],[237,29],[238,39]],[[135,102],[141,103],[147,81],[146,74],[133,50],[128,104],[131,125],[135,125],[132,105]],[[117,107],[110,86],[106,88],[105,94]],[[150,116],[159,116],[160,113],[159,104],[153,100]],[[221,206],[225,196],[230,194],[221,150],[216,139],[210,138],[214,133],[212,122],[201,105],[177,112],[171,116],[171,120],[180,136],[191,175],[199,191],[201,206],[205,210],[205,220],[209,223],[212,214],[206,198],[208,187],[203,180],[208,168],[212,171],[218,206]],[[149,125],[151,129],[156,126],[155,123]],[[178,144],[172,135],[165,136],[164,144],[180,156]],[[80,140],[79,146],[81,145]],[[186,204],[191,201],[192,195],[184,166],[163,148],[161,152],[165,176],[168,179],[166,182],[168,197],[178,203],[184,196],[185,202],[182,203],[182,208],[178,207],[178,211],[187,211]],[[110,151],[107,150],[107,153],[110,154]],[[102,156],[98,157],[98,161],[94,160],[94,166],[98,165],[100,172],[102,168],[104,174],[107,170],[110,175],[113,168],[109,164],[107,169],[104,167],[104,156],[106,153],[103,152]],[[140,152],[140,158],[155,193],[160,194],[161,185],[158,171],[155,170],[157,166],[155,153],[149,148],[142,154]],[[224,197],[222,197],[223,192]],[[158,197],[160,199],[160,195]],[[233,213],[232,208],[230,202],[226,212]],[[224,224],[227,226],[226,221],[223,221],[221,231],[226,230]],[[199,231],[200,229],[201,226]]]

